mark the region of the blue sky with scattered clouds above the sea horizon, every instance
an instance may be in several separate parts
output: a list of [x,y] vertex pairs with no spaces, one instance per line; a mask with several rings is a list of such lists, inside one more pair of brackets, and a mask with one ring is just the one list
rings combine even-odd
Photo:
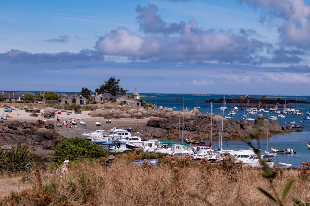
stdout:
[[0,90],[310,95],[309,1],[0,4]]

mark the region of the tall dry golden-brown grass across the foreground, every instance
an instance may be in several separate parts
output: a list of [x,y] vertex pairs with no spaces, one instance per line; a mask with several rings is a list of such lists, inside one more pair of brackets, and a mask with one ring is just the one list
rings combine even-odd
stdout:
[[271,183],[262,176],[262,168],[224,168],[192,162],[188,156],[165,161],[157,167],[147,163],[139,167],[128,157],[117,157],[109,168],[98,160],[84,161],[69,165],[71,174],[63,177],[54,170],[37,169],[31,190],[12,193],[0,205],[277,205],[258,187],[281,197],[292,178],[283,205],[294,205],[290,198],[309,203],[308,170],[275,168]]

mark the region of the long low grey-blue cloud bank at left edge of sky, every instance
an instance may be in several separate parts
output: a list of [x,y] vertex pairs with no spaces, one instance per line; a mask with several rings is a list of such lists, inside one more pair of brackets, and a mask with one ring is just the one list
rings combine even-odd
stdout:
[[104,57],[95,51],[84,49],[79,53],[28,53],[16,49],[11,49],[7,53],[0,54],[0,61],[11,63],[56,63],[72,61],[104,61]]

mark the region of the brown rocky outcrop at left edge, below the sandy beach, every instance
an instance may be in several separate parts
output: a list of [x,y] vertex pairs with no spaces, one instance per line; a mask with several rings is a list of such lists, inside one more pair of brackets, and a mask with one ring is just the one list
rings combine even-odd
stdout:
[[60,137],[55,132],[52,121],[43,123],[38,120],[36,123],[27,122],[3,122],[0,121],[0,145],[27,145],[29,149],[52,149],[55,145],[55,138]]

